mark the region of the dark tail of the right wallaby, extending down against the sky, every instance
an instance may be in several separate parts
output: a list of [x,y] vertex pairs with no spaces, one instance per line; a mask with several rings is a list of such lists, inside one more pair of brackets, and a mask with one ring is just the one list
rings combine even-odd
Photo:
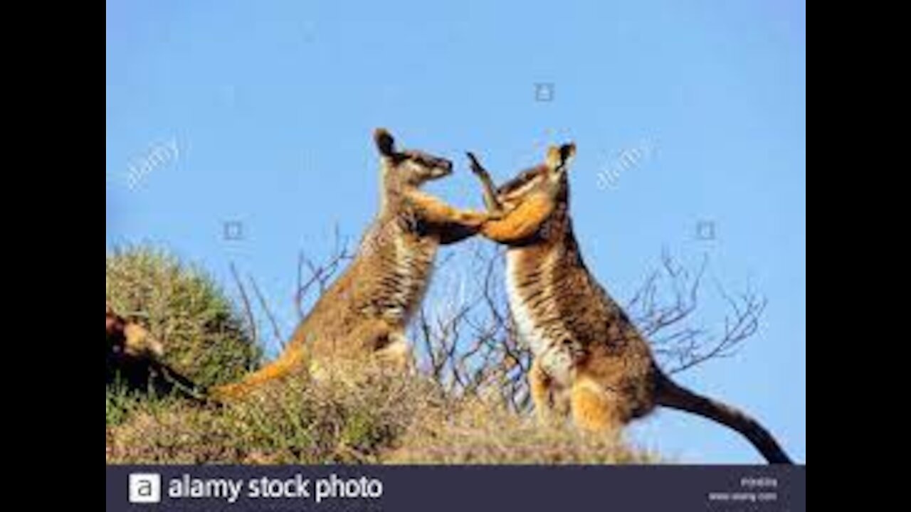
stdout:
[[656,392],[656,403],[659,405],[701,415],[740,432],[763,454],[769,464],[793,464],[791,457],[784,453],[772,434],[758,421],[742,411],[695,394],[674,383],[670,377],[664,374],[660,374]]

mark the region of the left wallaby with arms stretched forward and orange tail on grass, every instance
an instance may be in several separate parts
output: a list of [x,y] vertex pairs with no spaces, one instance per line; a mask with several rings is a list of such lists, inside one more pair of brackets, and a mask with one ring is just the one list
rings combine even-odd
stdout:
[[365,356],[398,368],[410,364],[405,327],[424,297],[437,249],[476,234],[489,215],[456,210],[421,191],[427,181],[452,173],[449,160],[397,149],[383,128],[374,131],[374,142],[380,153],[380,210],[354,260],[322,294],[276,361],[240,383],[212,389],[212,396],[246,394],[294,372],[318,374],[324,363],[363,361]]

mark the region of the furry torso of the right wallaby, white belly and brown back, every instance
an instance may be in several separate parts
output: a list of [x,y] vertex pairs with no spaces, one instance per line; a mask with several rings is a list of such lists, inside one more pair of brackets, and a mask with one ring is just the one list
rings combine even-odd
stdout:
[[624,419],[644,415],[650,399],[649,344],[594,280],[578,251],[565,205],[535,235],[507,249],[507,297],[517,332],[554,393],[584,375],[622,394]]

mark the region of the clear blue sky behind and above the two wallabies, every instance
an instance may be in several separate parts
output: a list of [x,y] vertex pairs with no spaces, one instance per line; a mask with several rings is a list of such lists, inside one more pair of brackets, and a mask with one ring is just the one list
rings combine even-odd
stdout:
[[[292,324],[298,251],[325,254],[335,223],[356,239],[374,215],[374,127],[453,159],[431,190],[476,208],[465,149],[504,178],[572,139],[578,238],[609,292],[629,297],[667,248],[768,298],[740,353],[680,378],[805,462],[804,3],[505,4],[108,1],[107,249],[156,243],[228,288],[234,261]],[[647,157],[600,188],[643,141]],[[243,240],[226,241],[235,220]],[[698,240],[701,221],[715,240]],[[683,462],[761,460],[666,410],[632,435]]]

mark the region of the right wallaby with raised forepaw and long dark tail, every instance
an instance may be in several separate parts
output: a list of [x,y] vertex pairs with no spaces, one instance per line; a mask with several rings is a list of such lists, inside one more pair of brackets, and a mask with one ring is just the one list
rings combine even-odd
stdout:
[[519,336],[530,346],[532,399],[543,418],[571,415],[590,431],[617,430],[664,405],[746,436],[770,463],[791,464],[749,415],[675,384],[649,343],[582,261],[569,217],[567,170],[574,144],[548,148],[545,163],[494,189],[468,153],[497,216],[482,234],[507,245],[507,295]]

